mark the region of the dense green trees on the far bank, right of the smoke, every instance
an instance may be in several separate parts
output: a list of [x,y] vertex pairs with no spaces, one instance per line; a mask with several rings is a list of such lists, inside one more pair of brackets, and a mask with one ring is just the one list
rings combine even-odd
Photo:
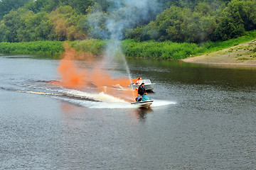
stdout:
[[127,38],[174,42],[223,41],[256,30],[256,1],[199,1],[194,8],[172,5]]

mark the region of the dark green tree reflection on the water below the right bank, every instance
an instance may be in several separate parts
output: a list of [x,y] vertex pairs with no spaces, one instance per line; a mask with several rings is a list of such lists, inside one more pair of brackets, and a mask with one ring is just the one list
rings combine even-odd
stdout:
[[251,67],[210,67],[157,60],[128,60],[128,63],[132,74],[161,84],[201,84],[233,89],[256,87],[256,68]]

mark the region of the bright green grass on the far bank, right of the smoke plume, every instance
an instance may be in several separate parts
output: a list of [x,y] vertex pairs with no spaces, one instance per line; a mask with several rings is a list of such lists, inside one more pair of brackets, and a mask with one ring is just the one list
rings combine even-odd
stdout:
[[248,32],[247,35],[232,40],[223,42],[205,42],[199,45],[187,42],[137,42],[135,40],[124,40],[122,41],[122,50],[127,57],[180,60],[190,56],[223,50],[243,42],[255,40],[255,38],[256,31]]

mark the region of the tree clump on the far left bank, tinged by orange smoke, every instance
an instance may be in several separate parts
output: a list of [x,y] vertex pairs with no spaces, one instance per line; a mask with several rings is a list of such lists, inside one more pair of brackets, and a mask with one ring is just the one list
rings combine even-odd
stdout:
[[81,17],[70,6],[60,6],[50,13],[18,8],[4,16],[0,38],[2,42],[85,39],[85,33],[79,29]]

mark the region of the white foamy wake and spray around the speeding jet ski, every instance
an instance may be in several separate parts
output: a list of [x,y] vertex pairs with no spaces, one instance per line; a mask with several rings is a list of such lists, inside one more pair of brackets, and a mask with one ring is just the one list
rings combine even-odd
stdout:
[[[18,86],[17,86],[18,85]],[[26,84],[16,84],[13,88],[1,88],[7,91],[16,91],[18,93],[26,93],[33,95],[43,95],[56,98],[60,101],[66,101],[86,108],[137,108],[131,104],[131,98],[127,98],[127,101],[118,96],[112,96],[105,94],[103,91],[83,91],[80,89],[68,89],[63,86],[48,86],[49,81],[30,81]],[[117,89],[113,87],[112,90],[120,91],[124,89]],[[174,105],[174,101],[164,101],[153,99],[151,108],[159,108],[162,106]]]

